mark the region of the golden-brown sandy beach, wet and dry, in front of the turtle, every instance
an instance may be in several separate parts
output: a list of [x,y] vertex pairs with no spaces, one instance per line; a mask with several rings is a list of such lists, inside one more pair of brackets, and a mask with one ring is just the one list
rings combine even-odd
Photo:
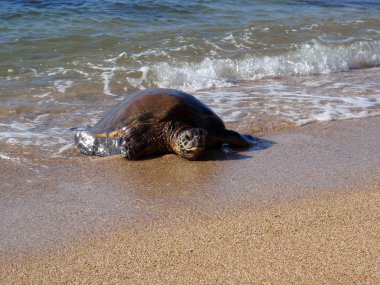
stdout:
[[196,162],[3,158],[0,283],[379,283],[380,117],[258,136]]

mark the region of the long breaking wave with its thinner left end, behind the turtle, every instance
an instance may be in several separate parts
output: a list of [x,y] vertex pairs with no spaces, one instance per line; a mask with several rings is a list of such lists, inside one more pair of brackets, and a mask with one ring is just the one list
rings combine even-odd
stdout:
[[202,48],[193,47],[199,51],[199,58],[181,56],[177,51],[160,47],[134,54],[122,52],[96,61],[83,58],[83,61],[74,61],[72,66],[41,72],[33,69],[19,74],[12,69],[3,83],[19,87],[20,82],[24,82],[29,86],[30,78],[36,78],[33,82],[37,82],[37,86],[41,82],[52,82],[44,93],[62,94],[81,82],[101,83],[106,95],[157,87],[195,92],[263,78],[331,74],[380,65],[380,40],[336,43],[321,38],[293,44],[287,49],[252,48],[235,56],[215,50],[202,53]]

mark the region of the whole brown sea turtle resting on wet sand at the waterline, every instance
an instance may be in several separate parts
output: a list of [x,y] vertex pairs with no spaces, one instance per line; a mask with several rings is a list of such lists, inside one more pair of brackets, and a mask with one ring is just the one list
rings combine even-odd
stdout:
[[195,160],[209,147],[226,143],[249,147],[249,135],[225,128],[223,121],[194,96],[179,90],[149,89],[129,96],[95,126],[78,128],[78,149],[89,155],[123,154],[139,159],[176,153]]

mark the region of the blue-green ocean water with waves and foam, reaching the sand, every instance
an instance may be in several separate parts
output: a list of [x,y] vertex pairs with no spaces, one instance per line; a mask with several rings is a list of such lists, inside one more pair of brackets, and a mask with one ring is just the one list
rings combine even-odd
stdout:
[[255,132],[380,115],[379,1],[0,1],[0,159],[176,88]]

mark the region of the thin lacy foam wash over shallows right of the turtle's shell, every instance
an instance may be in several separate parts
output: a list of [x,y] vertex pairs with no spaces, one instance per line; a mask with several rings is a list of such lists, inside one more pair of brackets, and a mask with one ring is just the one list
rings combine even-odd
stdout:
[[[380,115],[379,69],[305,77],[296,81],[267,79],[238,88],[197,92],[227,123],[254,126],[256,120],[303,125]],[[369,90],[369,91],[368,91]]]

